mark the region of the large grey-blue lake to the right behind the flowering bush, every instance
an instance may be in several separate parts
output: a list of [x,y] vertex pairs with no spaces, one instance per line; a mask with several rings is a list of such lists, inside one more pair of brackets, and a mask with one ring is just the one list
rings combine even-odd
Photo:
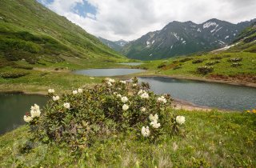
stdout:
[[229,110],[256,108],[256,88],[232,86],[214,82],[198,82],[186,79],[146,77],[140,82],[149,82],[156,94],[170,94],[173,98]]

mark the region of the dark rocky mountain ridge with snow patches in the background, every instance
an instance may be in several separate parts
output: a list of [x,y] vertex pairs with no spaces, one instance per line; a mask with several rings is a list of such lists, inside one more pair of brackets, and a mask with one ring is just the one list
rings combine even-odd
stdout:
[[233,24],[210,19],[202,24],[170,22],[162,30],[149,32],[122,48],[128,58],[153,60],[193,54],[226,46],[252,22]]

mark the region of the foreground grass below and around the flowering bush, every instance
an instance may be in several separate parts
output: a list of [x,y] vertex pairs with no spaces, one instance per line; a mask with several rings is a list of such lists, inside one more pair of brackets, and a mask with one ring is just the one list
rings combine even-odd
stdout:
[[0,166],[42,167],[254,167],[256,166],[256,115],[177,110],[186,117],[183,136],[167,137],[157,144],[136,136],[116,134],[98,141],[77,158],[67,146],[34,143],[27,126],[0,137]]

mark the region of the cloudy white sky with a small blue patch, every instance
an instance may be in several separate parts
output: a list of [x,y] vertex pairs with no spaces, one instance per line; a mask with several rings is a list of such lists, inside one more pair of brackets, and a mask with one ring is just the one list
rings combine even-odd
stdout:
[[238,23],[256,18],[255,0],[38,0],[88,33],[131,41],[169,22]]

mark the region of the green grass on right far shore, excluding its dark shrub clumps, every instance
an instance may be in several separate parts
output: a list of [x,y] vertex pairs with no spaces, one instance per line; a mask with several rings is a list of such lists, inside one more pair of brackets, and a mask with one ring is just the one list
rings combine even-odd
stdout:
[[[186,57],[187,58],[187,57]],[[191,56],[187,61],[186,58],[170,58],[166,60],[150,61],[143,64],[142,67],[150,70],[150,74],[165,74],[165,75],[183,75],[194,77],[207,77],[211,74],[230,75],[256,75],[256,54],[239,52],[239,53],[219,53],[219,54],[204,54],[201,56]],[[215,59],[214,59],[215,58]],[[230,58],[242,58],[239,62],[242,66],[232,67]],[[193,63],[195,60],[203,60],[202,62]],[[214,62],[218,60],[219,62]],[[197,73],[199,66],[206,66],[207,63],[214,62],[214,71],[212,73],[202,75]],[[160,67],[160,68],[159,68]],[[179,67],[176,69],[176,67]]]

